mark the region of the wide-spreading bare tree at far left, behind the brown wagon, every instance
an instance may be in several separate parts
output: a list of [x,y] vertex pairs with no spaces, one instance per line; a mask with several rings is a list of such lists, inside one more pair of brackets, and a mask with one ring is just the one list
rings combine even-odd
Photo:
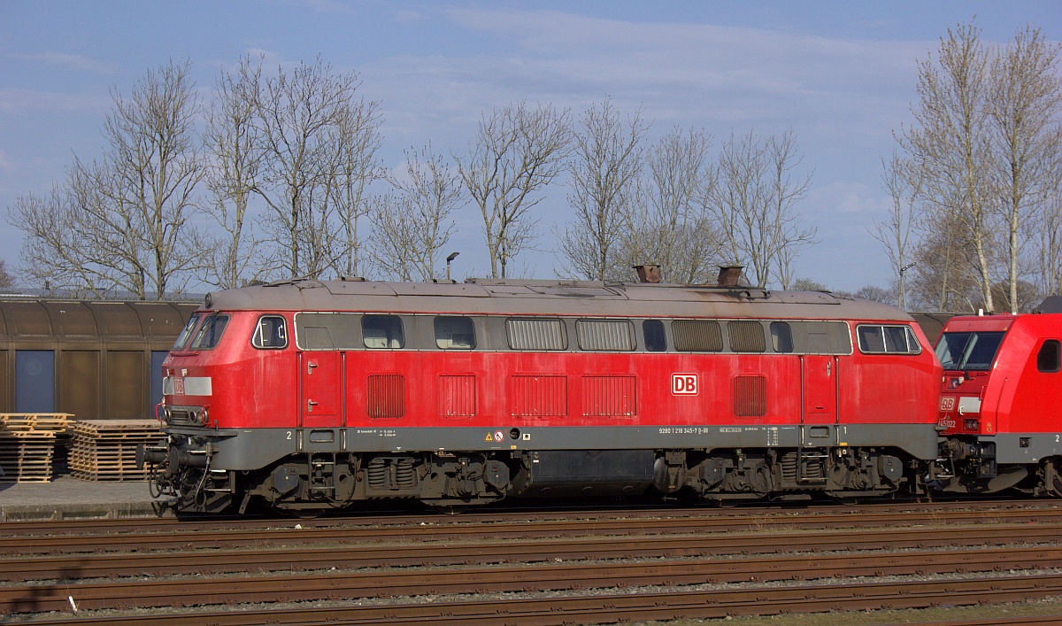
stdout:
[[189,223],[203,177],[190,69],[171,62],[150,70],[129,98],[113,92],[101,160],[75,158],[65,185],[16,201],[8,219],[27,233],[28,278],[140,300],[184,290],[206,249]]

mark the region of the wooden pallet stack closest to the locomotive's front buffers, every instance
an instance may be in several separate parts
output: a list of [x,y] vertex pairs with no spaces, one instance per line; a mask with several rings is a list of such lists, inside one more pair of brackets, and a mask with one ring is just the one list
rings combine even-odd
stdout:
[[84,420],[73,425],[70,474],[82,480],[144,480],[136,447],[165,435],[156,420]]

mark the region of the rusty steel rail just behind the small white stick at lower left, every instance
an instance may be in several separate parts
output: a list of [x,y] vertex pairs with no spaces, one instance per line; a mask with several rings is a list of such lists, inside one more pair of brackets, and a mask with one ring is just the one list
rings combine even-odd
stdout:
[[811,580],[1062,566],[1062,547],[787,556],[665,563],[550,563],[450,570],[319,572],[194,580],[0,587],[0,613],[310,602],[441,594]]

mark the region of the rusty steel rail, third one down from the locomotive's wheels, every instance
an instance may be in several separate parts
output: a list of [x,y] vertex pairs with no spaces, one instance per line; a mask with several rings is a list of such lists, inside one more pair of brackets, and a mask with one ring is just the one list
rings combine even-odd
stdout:
[[535,562],[561,559],[629,559],[716,555],[925,549],[940,546],[1054,544],[1062,525],[961,528],[835,530],[742,535],[683,535],[638,538],[565,537],[550,540],[418,541],[271,549],[212,549],[179,553],[86,554],[0,558],[0,580],[76,580],[118,576],[169,576],[226,572],[277,572],[357,568]]

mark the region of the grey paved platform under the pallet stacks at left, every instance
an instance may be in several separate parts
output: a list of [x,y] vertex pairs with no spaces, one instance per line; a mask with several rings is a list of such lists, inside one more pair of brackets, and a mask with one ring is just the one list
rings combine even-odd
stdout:
[[154,500],[148,484],[80,480],[0,483],[0,522],[172,515],[167,498]]

